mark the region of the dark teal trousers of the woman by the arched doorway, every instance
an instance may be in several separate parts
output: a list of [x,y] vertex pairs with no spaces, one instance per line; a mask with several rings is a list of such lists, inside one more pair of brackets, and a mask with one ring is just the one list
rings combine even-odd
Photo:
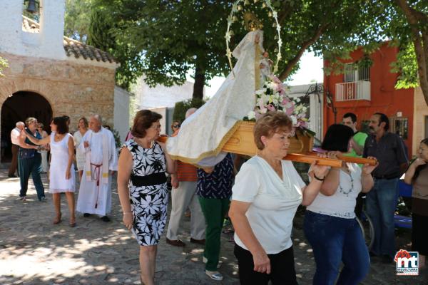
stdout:
[[41,182],[41,155],[36,153],[34,157],[18,160],[19,167],[19,182],[21,183],[21,190],[19,197],[25,197],[29,187],[30,175],[33,178],[34,187],[36,187],[37,198],[40,200],[44,195],[43,182]]

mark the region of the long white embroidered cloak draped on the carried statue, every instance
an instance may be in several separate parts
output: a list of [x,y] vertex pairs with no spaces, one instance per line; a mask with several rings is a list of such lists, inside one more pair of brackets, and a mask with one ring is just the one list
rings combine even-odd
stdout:
[[[233,72],[225,79],[213,98],[187,118],[180,133],[168,138],[167,150],[175,160],[213,166],[223,160],[223,145],[233,135],[236,123],[255,106],[255,90],[260,88],[260,60],[263,31],[250,31],[233,50],[238,59]],[[196,138],[196,139],[195,139]],[[200,143],[203,140],[204,143]],[[218,159],[201,163],[206,157]]]

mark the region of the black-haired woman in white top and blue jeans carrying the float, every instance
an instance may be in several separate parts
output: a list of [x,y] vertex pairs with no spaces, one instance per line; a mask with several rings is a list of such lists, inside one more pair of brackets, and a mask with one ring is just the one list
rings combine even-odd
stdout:
[[[346,125],[331,125],[321,147],[330,157],[348,152],[353,135]],[[332,168],[307,207],[303,228],[317,264],[313,284],[359,284],[367,275],[370,257],[354,209],[358,194],[372,189],[375,167],[343,162],[341,168]]]

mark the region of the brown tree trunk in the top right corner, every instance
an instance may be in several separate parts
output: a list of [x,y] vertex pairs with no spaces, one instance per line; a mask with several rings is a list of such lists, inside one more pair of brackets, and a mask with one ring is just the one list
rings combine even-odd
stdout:
[[419,85],[424,94],[425,103],[428,105],[428,31],[422,29],[428,22],[428,16],[414,10],[406,0],[395,0],[399,8],[406,16],[412,30],[412,41],[417,58],[417,71],[419,73]]

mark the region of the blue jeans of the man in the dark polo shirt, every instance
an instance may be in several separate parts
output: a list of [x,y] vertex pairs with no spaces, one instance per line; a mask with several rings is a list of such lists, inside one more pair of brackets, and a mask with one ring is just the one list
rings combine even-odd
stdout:
[[367,193],[367,214],[374,227],[372,253],[395,255],[394,212],[397,208],[398,178],[375,179],[374,187]]

